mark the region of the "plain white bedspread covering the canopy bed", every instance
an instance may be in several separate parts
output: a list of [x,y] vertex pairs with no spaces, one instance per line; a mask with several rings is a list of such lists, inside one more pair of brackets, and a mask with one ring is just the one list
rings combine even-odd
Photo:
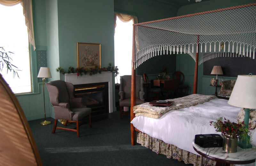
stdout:
[[[178,110],[170,110],[160,118],[138,116],[131,123],[134,127],[151,137],[163,140],[181,149],[197,154],[193,149],[192,140],[196,134],[213,134],[216,132],[210,121],[225,117],[237,122],[238,112],[241,108],[231,106],[228,100],[212,99],[196,106]],[[256,138],[254,130],[252,138]],[[256,139],[252,140],[255,145]]]

